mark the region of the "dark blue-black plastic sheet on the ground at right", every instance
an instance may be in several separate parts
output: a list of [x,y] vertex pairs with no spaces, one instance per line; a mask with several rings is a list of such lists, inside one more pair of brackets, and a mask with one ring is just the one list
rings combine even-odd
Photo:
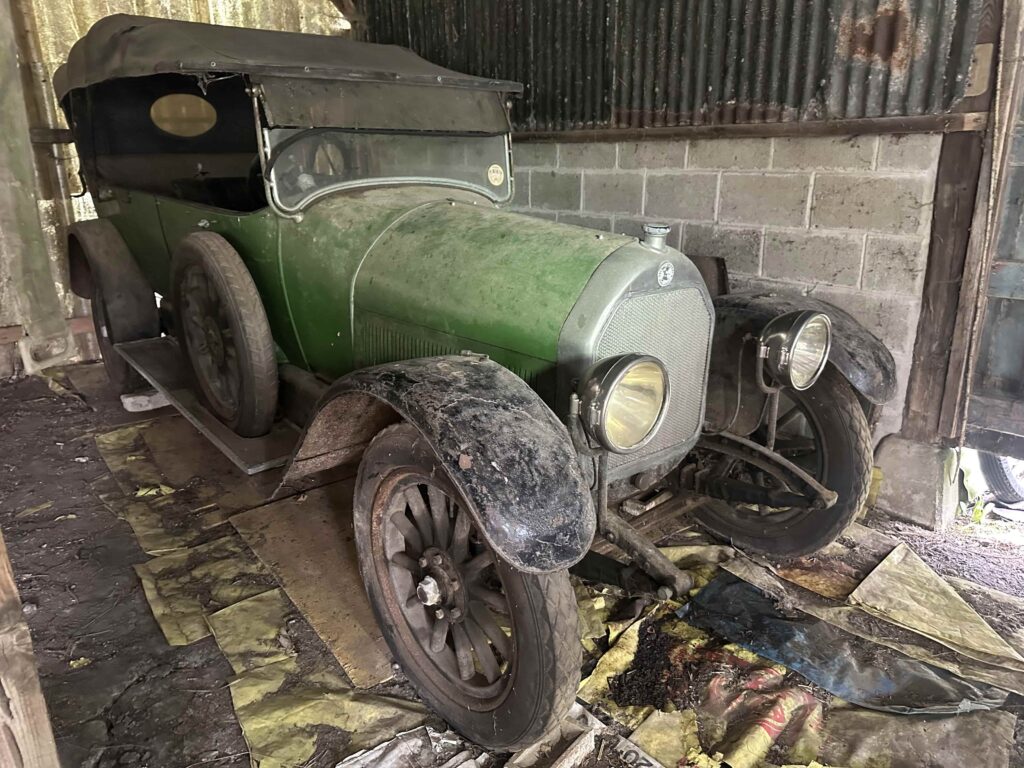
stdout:
[[680,613],[859,707],[950,715],[994,709],[1007,699],[1006,691],[973,684],[806,613],[783,613],[731,573],[712,581]]

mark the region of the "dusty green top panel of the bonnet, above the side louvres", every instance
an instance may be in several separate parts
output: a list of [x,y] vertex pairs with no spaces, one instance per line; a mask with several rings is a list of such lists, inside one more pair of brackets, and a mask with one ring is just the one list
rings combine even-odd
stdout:
[[[355,285],[364,312],[554,362],[558,334],[594,269],[631,238],[494,208],[438,202],[375,244]],[[413,256],[411,258],[411,256]],[[358,350],[383,361],[387,345]]]

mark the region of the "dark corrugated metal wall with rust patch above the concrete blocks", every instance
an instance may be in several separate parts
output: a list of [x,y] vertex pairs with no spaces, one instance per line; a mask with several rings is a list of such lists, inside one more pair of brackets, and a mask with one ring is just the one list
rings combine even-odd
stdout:
[[981,0],[365,0],[370,39],[518,80],[519,131],[941,114]]

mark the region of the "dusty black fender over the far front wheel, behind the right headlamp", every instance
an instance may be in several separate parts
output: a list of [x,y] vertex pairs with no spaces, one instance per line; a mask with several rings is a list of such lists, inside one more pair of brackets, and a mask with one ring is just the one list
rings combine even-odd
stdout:
[[781,296],[769,292],[733,293],[715,298],[718,332],[742,336],[758,334],[765,323],[783,312],[814,309],[833,322],[828,361],[866,399],[877,406],[896,394],[896,364],[882,341],[850,314],[827,301],[808,296]]

